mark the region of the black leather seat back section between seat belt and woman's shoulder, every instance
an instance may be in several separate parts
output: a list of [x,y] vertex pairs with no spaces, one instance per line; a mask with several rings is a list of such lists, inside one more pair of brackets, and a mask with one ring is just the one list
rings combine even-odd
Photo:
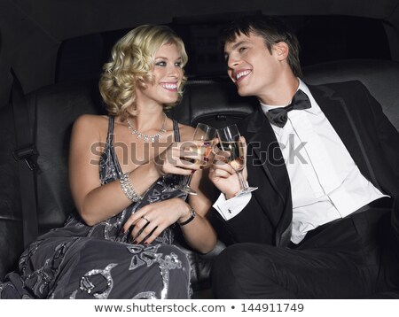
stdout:
[[83,113],[105,113],[92,81],[59,84],[27,95],[35,108],[35,143],[41,172],[36,176],[39,233],[59,227],[74,209],[68,184],[69,141]]

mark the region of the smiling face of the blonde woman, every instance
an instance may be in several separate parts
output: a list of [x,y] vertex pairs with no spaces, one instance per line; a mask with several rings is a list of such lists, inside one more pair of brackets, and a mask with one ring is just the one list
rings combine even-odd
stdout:
[[155,54],[153,81],[138,89],[137,102],[173,104],[183,79],[182,57],[176,44],[165,44]]

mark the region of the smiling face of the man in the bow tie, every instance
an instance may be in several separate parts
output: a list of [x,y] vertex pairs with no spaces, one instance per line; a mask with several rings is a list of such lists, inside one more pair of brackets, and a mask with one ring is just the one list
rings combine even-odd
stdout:
[[240,96],[262,97],[281,73],[277,53],[268,50],[259,35],[240,34],[231,43],[224,45],[227,73],[238,89]]

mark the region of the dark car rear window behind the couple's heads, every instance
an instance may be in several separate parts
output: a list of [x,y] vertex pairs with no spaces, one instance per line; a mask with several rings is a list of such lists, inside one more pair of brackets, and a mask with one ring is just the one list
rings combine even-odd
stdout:
[[[218,19],[219,18],[219,19]],[[287,16],[301,43],[301,65],[350,58],[391,59],[387,35],[378,19],[350,16]],[[189,77],[225,75],[218,33],[226,23],[211,19],[174,19],[169,27],[184,39],[189,55]],[[133,26],[134,27],[134,26]],[[59,49],[56,81],[94,79],[109,58],[110,50],[129,29],[68,39]]]

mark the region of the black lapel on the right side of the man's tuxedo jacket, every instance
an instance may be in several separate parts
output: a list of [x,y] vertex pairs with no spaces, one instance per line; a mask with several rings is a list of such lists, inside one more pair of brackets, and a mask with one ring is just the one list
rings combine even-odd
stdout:
[[356,166],[365,177],[370,179],[371,174],[364,159],[364,153],[356,140],[356,135],[358,136],[359,132],[344,99],[336,96],[334,90],[325,86],[309,86],[309,90],[320,109],[325,113],[325,117],[332,124],[332,128],[340,136],[340,140],[344,143]]

